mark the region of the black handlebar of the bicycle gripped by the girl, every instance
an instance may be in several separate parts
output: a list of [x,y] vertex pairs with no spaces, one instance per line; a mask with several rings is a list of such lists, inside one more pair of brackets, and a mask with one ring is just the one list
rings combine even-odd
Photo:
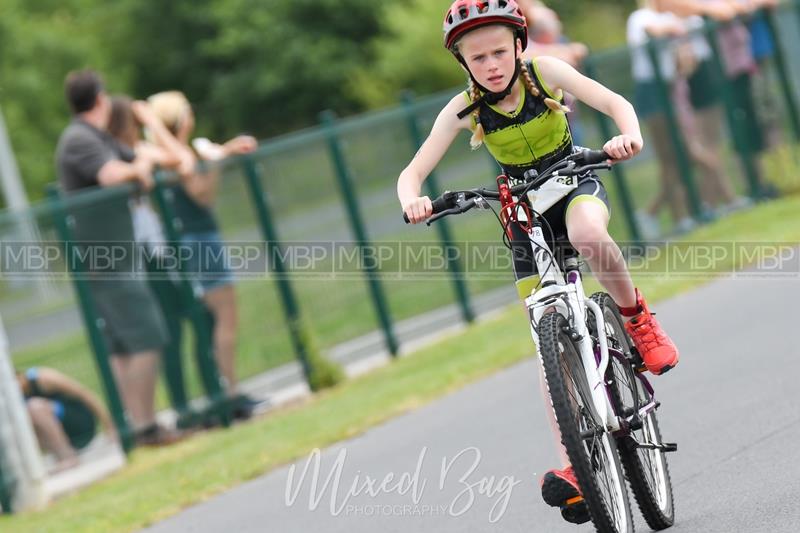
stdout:
[[[559,176],[576,176],[591,170],[608,170],[611,168],[608,163],[610,159],[611,157],[603,150],[576,152],[555,163],[541,174],[538,174],[535,170],[525,172],[525,182],[509,187],[509,191],[513,196],[520,196],[528,191],[536,190],[556,173]],[[498,191],[484,187],[467,191],[445,191],[441,196],[431,201],[432,216],[425,223],[430,226],[431,223],[448,215],[466,213],[473,207],[485,208],[487,206],[484,200],[499,199],[500,193]],[[406,224],[411,222],[405,213],[403,213],[403,220]]]

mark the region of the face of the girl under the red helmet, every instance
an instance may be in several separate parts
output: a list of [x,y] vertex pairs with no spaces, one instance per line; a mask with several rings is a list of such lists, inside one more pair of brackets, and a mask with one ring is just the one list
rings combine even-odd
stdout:
[[487,26],[466,34],[458,44],[458,51],[479,84],[500,92],[514,76],[515,57],[522,53],[522,45],[510,28]]

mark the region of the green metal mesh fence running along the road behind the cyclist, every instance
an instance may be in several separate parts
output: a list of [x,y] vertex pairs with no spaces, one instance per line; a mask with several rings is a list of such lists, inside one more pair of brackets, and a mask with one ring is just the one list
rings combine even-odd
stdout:
[[[796,150],[799,134],[800,62],[792,51],[800,48],[800,4],[781,10],[781,15],[772,16],[770,21],[783,53],[769,61],[766,78],[771,103],[782,117],[778,127],[783,131],[783,145],[763,157],[769,175],[785,178],[783,170],[792,164],[792,158],[785,154]],[[708,31],[713,37],[716,28],[711,25]],[[653,43],[651,56],[664,45]],[[628,49],[593,55],[587,70],[633,100]],[[663,87],[661,90],[666,91]],[[328,114],[319,128],[272,139],[252,157],[225,162],[215,205],[223,238],[234,245],[252,245],[263,254],[261,270],[239,272],[241,279],[236,285],[240,322],[237,366],[241,378],[299,360],[307,379],[321,379],[322,385],[312,388],[333,383],[334,378],[313,377],[316,365],[327,364],[319,349],[329,350],[380,330],[387,351],[396,353],[397,321],[448,304],[456,304],[464,320],[470,321],[475,314],[475,295],[509,285],[510,271],[485,275],[487,272],[475,270],[474,265],[463,261],[463,255],[455,253],[463,251],[467,243],[496,244],[500,233],[493,217],[471,214],[429,231],[402,222],[395,192],[397,176],[454,93],[419,99],[406,95],[395,108],[344,120]],[[666,92],[662,100],[667,112],[674,113]],[[610,121],[585,107],[578,109],[577,120],[580,128],[576,131],[581,131],[585,146],[600,147],[614,131]],[[672,121],[676,122],[674,117]],[[736,127],[742,126],[735,120],[730,123],[735,127],[729,131],[725,148],[729,174],[740,194],[758,198],[760,189],[749,174],[752,169],[747,161],[740,164],[737,155],[742,154],[735,150],[734,140],[741,133]],[[683,138],[675,133],[672,142],[684,169],[690,212],[702,223],[708,217],[697,192],[700,178],[692,171],[685,147],[680,146]],[[649,138],[647,127],[644,135]],[[496,174],[496,164],[485,151],[471,151],[465,134],[437,167],[427,192],[491,185]],[[177,241],[181,221],[171,210],[164,184],[169,179],[160,180],[152,198],[168,237]],[[617,167],[605,183],[612,199],[612,234],[620,241],[640,240],[636,210],[652,201],[660,187],[649,143],[641,157]],[[97,190],[68,198],[53,193],[27,213],[0,214],[0,237],[6,249],[29,240],[59,250],[66,241],[69,248],[74,238],[71,219],[76,214],[102,221],[109,212],[127,210],[131,192],[130,188]],[[671,233],[676,222],[661,215],[664,235]],[[306,251],[317,246],[335,253],[326,253],[309,267],[308,256],[296,255],[299,243]],[[440,247],[444,250],[444,268],[434,276],[419,268],[398,270],[397,256],[384,262],[367,257],[376,247],[401,250],[406,243]],[[107,350],[99,337],[102,321],[86,294],[85,282],[59,260],[49,264],[48,276],[37,277],[36,269],[9,266],[7,260],[4,266],[0,313],[9,330],[15,364],[19,368],[52,366],[102,392],[129,447],[130,435],[108,369]],[[167,386],[160,390],[158,403],[191,416],[191,398],[215,398],[212,407],[224,402],[210,351],[207,311],[179,274],[178,281],[161,289],[156,286],[162,305],[173,319],[170,329],[175,340],[165,356]],[[333,376],[336,371],[329,369],[322,374]],[[219,411],[223,418],[224,413],[224,409]]]

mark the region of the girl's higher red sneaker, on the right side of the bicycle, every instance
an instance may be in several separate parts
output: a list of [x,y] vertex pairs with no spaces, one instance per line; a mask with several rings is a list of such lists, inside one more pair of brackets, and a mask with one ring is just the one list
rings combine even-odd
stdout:
[[659,375],[675,368],[680,357],[678,348],[661,329],[639,289],[636,289],[636,307],[620,308],[620,313],[624,317],[632,317],[625,324],[625,331],[631,336],[647,370]]

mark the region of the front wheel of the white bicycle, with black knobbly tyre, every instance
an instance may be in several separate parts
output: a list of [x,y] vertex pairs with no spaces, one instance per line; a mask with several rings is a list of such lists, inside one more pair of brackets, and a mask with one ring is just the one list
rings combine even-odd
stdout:
[[539,352],[550,401],[561,430],[561,442],[600,533],[632,533],[628,491],[617,446],[592,403],[580,351],[570,338],[569,323],[558,313],[542,318]]

